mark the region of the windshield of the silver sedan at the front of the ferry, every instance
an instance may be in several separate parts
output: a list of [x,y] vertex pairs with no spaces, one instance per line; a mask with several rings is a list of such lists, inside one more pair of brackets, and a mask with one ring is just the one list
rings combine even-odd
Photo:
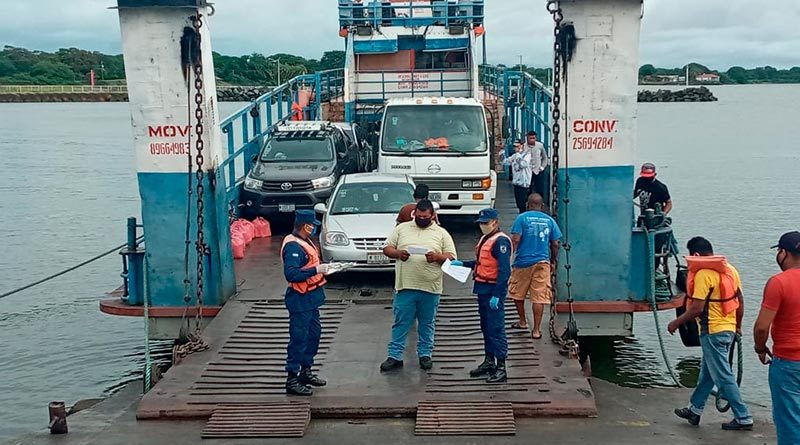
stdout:
[[331,204],[332,215],[397,213],[414,202],[414,187],[400,182],[343,184]]

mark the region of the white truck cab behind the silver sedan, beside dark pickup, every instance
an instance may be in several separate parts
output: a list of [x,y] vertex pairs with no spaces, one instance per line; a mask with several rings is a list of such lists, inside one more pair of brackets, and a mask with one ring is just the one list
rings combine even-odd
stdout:
[[475,215],[494,206],[497,176],[479,100],[391,99],[380,128],[378,171],[426,184],[439,213]]

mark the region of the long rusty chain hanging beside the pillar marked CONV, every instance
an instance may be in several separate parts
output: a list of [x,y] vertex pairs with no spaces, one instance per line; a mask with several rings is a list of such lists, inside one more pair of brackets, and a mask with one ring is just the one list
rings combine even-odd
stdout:
[[[562,78],[562,47],[561,47],[561,24],[564,20],[564,14],[561,10],[561,3],[559,0],[548,0],[547,2],[547,11],[553,16],[553,21],[555,26],[553,28],[553,107],[552,107],[552,119],[553,119],[553,139],[551,144],[551,151],[552,151],[552,161],[551,161],[551,213],[553,216],[558,220],[558,205],[559,205],[559,189],[558,189],[558,169],[559,169],[559,162],[560,162],[560,151],[561,151],[561,78]],[[564,61],[566,62],[566,61]],[[563,67],[566,70],[566,67]],[[569,187],[567,181],[567,187]],[[569,206],[569,197],[568,194],[565,193],[564,195],[564,213],[565,213],[565,220],[566,220],[566,213],[567,208]],[[566,222],[566,221],[565,221]],[[558,335],[556,333],[556,291],[558,289],[558,258],[553,258],[553,267],[550,271],[550,280],[552,291],[550,293],[550,339],[553,343],[558,344],[561,346],[561,352],[564,354],[569,355],[572,358],[578,357],[578,329],[577,323],[575,322],[575,313],[573,311],[572,303],[572,282],[570,280],[570,269],[572,265],[569,261],[569,235],[568,235],[569,227],[565,225],[564,232],[565,232],[565,243],[564,243],[564,252],[565,252],[565,264],[564,268],[566,270],[566,287],[567,287],[567,302],[569,304],[569,321],[567,323],[567,330],[563,335]]]

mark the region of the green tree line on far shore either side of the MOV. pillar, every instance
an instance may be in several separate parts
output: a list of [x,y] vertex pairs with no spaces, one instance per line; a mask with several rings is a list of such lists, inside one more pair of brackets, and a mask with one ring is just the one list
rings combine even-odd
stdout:
[[[214,69],[220,84],[275,85],[278,77],[286,81],[304,72],[343,66],[344,51],[327,51],[319,60],[291,54],[226,56],[214,53]],[[89,83],[92,70],[97,84],[125,81],[122,55],[77,48],[62,48],[50,53],[5,46],[0,51],[0,85],[85,85]]]

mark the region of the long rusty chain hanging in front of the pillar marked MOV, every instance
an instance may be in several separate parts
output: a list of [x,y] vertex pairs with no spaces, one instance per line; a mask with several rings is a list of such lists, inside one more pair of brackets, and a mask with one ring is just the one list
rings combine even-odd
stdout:
[[194,71],[194,103],[195,103],[195,110],[194,110],[194,117],[195,117],[195,134],[197,135],[195,138],[195,179],[197,181],[196,184],[196,193],[197,193],[197,241],[195,242],[195,248],[197,251],[197,294],[196,294],[196,312],[195,312],[195,326],[194,332],[189,333],[187,335],[187,342],[184,344],[176,345],[172,351],[172,360],[173,363],[179,363],[184,357],[193,354],[195,352],[205,351],[209,348],[208,343],[202,337],[201,326],[203,323],[203,296],[204,296],[204,282],[203,282],[203,273],[204,273],[204,262],[206,255],[210,254],[210,249],[206,245],[205,242],[205,233],[204,233],[204,225],[205,225],[205,185],[203,184],[205,174],[203,171],[203,164],[205,163],[205,157],[203,155],[203,149],[205,148],[205,141],[203,140],[203,52],[201,47],[201,37],[200,37],[200,29],[203,26],[203,18],[200,10],[197,10],[197,14],[192,17],[192,24],[194,26],[195,36],[197,38],[197,59],[193,64],[193,71]]

